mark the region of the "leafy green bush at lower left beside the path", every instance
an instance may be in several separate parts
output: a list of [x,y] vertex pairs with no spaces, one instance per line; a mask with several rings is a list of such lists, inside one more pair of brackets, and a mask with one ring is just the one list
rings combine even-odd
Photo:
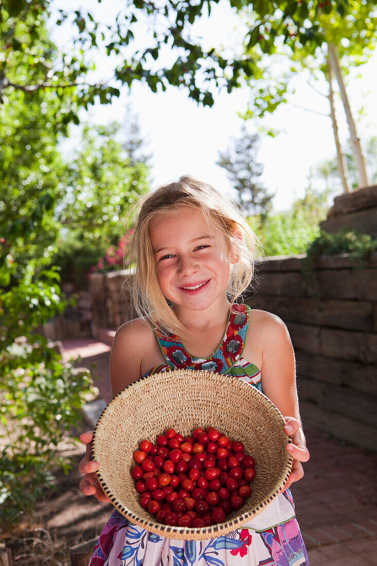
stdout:
[[[58,455],[64,431],[80,419],[84,396],[91,391],[89,371],[80,374],[62,363],[46,339],[8,348],[0,381],[0,523],[31,513],[54,488],[52,471],[71,468]],[[78,440],[78,439],[76,439]]]

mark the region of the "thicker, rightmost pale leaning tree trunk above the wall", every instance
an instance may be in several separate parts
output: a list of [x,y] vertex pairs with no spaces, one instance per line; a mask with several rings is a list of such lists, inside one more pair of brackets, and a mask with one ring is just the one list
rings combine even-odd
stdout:
[[353,145],[354,157],[355,157],[355,162],[356,162],[357,171],[358,171],[359,187],[367,187],[368,186],[368,178],[367,178],[367,173],[366,173],[366,168],[365,168],[364,156],[363,156],[363,153],[361,151],[360,139],[358,138],[358,135],[357,135],[355,122],[354,122],[352,112],[351,112],[351,108],[350,108],[350,105],[349,105],[349,100],[348,100],[348,96],[347,96],[345,85],[344,85],[344,80],[343,80],[340,65],[339,65],[339,59],[338,59],[336,45],[328,44],[327,47],[328,47],[329,61],[331,62],[331,66],[332,66],[332,69],[335,73],[337,83],[339,84],[340,96],[341,96],[341,99],[342,99],[344,112],[345,112],[347,123],[348,123],[351,143]]

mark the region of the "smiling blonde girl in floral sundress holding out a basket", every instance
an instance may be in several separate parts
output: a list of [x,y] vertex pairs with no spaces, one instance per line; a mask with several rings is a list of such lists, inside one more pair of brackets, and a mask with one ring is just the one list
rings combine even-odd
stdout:
[[[235,303],[253,277],[255,241],[237,207],[207,183],[181,177],[149,192],[132,243],[138,318],[115,335],[110,379],[113,396],[141,376],[181,367],[234,375],[257,387],[280,409],[292,435],[285,490],[242,528],[206,541],[162,538],[114,511],[89,566],[309,565],[289,490],[303,476],[301,462],[309,460],[292,342],[279,317]],[[87,444],[80,489],[108,501],[93,473],[92,432],[80,439]]]

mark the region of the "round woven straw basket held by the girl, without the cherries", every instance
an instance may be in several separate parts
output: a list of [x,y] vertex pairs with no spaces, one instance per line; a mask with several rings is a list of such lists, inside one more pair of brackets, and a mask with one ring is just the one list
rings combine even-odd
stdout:
[[[213,426],[245,444],[255,458],[252,492],[238,511],[223,523],[203,528],[164,525],[139,503],[131,477],[133,452],[143,439],[153,444],[166,428],[183,436],[194,428]],[[196,370],[166,371],[128,385],[98,419],[92,458],[102,490],[128,521],[166,538],[199,540],[219,537],[240,528],[279,494],[292,469],[286,450],[290,436],[276,406],[258,389],[223,374]]]

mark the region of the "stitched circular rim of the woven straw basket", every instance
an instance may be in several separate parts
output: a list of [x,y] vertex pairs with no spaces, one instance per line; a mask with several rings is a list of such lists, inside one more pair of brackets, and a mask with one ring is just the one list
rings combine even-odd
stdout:
[[[122,391],[117,393],[117,395],[115,395],[113,399],[108,403],[108,405],[106,405],[105,409],[102,411],[96,423],[96,427],[93,432],[93,439],[92,439],[92,449],[91,449],[92,460],[98,461],[98,458],[95,457],[97,442],[100,443],[98,437],[100,436],[102,426],[104,426],[104,418],[106,417],[108,411],[111,410],[110,406],[113,407],[114,405],[116,405],[121,397],[125,397],[127,395],[128,390],[130,389],[132,390],[135,387],[138,387],[138,385],[143,381],[152,381],[152,379],[156,379],[160,376],[171,377],[177,374],[182,374],[182,372],[191,374],[193,376],[202,376],[202,375],[207,375],[209,373],[208,371],[205,370],[192,370],[185,368],[158,372],[158,374],[146,375],[143,376],[142,378],[139,378],[136,381],[133,381],[132,383],[128,384],[124,389],[122,389]],[[237,382],[237,384],[239,384],[236,387],[245,388],[245,389],[247,388],[247,391],[249,392],[252,391],[252,395],[260,396],[260,400],[266,406],[266,408],[272,410],[275,413],[276,417],[278,419],[280,418],[281,422],[284,422],[285,424],[284,417],[281,414],[281,411],[266,395],[264,395],[263,392],[259,391],[259,389],[257,389],[256,387],[252,387],[250,389],[249,383],[246,383],[245,381],[238,379],[236,376],[229,374],[220,374],[219,372],[211,372],[211,376],[213,376],[213,378],[216,378],[217,376],[221,376],[223,378],[224,376],[226,376],[226,378],[233,379],[234,382]],[[285,431],[284,431],[284,436],[285,436],[284,446],[292,443],[292,437],[286,434]],[[117,498],[115,498],[112,491],[107,486],[104,478],[102,477],[101,472],[97,470],[95,474],[98,483],[100,483],[102,491],[104,491],[105,495],[108,496],[112,505],[115,507],[115,509],[117,509],[119,513],[121,513],[124,517],[126,517],[126,519],[131,523],[136,524],[142,527],[143,529],[150,531],[151,533],[161,535],[162,537],[165,538],[186,539],[186,540],[207,539],[207,538],[209,539],[209,538],[220,537],[223,534],[229,533],[232,530],[240,528],[246,522],[250,521],[257,514],[263,511],[263,509],[267,507],[267,505],[269,505],[269,503],[271,503],[271,501],[275,499],[276,496],[279,495],[279,493],[281,492],[282,487],[284,487],[284,484],[288,480],[289,474],[292,471],[292,464],[293,464],[293,457],[288,453],[288,451],[285,451],[284,465],[282,468],[281,477],[277,481],[276,486],[267,493],[267,495],[260,504],[256,505],[252,509],[252,511],[245,511],[236,518],[232,518],[229,519],[228,521],[224,521],[216,525],[209,525],[206,527],[181,527],[181,526],[165,525],[163,523],[158,522],[157,520],[153,521],[152,518],[150,520],[146,520],[143,519],[142,517],[138,517],[137,515],[135,515],[134,512],[131,511],[131,509],[128,509],[125,505],[120,503],[117,500]]]

